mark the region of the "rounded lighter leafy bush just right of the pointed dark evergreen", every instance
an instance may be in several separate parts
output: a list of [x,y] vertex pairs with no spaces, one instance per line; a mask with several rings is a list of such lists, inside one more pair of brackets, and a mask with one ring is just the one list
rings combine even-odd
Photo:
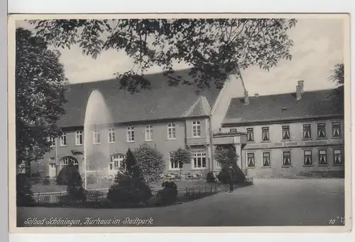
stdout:
[[148,183],[159,181],[165,169],[164,156],[157,149],[143,144],[133,152],[136,164]]

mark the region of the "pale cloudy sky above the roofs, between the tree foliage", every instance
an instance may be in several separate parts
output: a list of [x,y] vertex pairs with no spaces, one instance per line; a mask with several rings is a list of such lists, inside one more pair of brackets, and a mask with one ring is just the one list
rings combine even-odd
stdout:
[[[289,34],[294,41],[290,53],[292,61],[282,60],[278,66],[268,72],[258,66],[242,70],[241,74],[249,95],[270,95],[295,92],[297,80],[304,80],[304,90],[334,88],[327,80],[337,63],[344,63],[343,19],[298,19],[295,28]],[[23,21],[16,27],[33,28]],[[114,73],[131,70],[133,61],[123,51],[103,51],[94,60],[83,56],[79,46],[70,50],[60,49],[60,62],[65,66],[65,75],[70,83],[84,83],[114,78]],[[175,69],[187,68],[181,63]],[[158,73],[155,66],[149,73]]]

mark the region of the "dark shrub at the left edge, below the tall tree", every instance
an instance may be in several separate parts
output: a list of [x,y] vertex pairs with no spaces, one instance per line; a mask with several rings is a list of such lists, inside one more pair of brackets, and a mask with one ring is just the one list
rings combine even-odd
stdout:
[[26,174],[18,174],[16,176],[16,205],[29,206],[33,204],[31,191],[31,181],[26,177]]

